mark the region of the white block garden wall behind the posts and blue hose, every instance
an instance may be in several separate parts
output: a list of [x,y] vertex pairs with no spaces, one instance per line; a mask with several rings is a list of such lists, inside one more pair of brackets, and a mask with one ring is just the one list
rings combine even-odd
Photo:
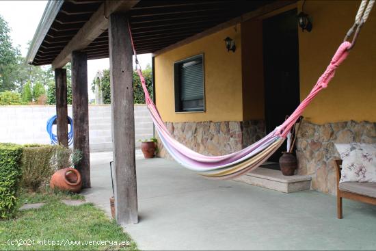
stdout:
[[[50,144],[46,122],[56,114],[54,105],[0,106],[0,142]],[[72,107],[68,106],[72,118]],[[53,127],[56,133],[56,126]],[[70,128],[68,127],[68,130]],[[146,105],[135,105],[135,141],[152,137],[152,120]],[[112,149],[110,105],[89,106],[91,151]]]

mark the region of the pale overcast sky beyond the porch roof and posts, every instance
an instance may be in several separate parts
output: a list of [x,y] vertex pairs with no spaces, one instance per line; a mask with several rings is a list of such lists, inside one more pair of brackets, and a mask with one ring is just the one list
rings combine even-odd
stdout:
[[[27,43],[33,39],[40,18],[44,12],[47,1],[1,1],[0,15],[11,29],[10,37],[14,46],[19,46],[24,57],[27,55]],[[139,64],[145,68],[151,65],[151,55],[144,54],[138,56]],[[98,70],[109,68],[109,59],[88,60],[88,90],[89,98],[94,98],[91,91],[91,83]]]

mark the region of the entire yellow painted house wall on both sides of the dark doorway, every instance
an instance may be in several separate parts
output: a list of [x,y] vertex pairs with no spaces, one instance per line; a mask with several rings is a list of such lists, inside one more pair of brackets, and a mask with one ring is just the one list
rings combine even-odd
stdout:
[[[360,1],[306,1],[311,32],[299,29],[301,100],[310,92],[340,42]],[[297,4],[301,8],[301,1]],[[295,8],[291,5],[286,10]],[[282,11],[282,10],[281,10]],[[277,11],[275,14],[280,13]],[[270,16],[270,15],[269,15]],[[264,118],[261,20],[246,21],[155,57],[157,107],[165,121],[240,121]],[[234,38],[235,53],[224,48]],[[243,45],[243,48],[242,48]],[[256,48],[256,49],[255,49]],[[204,53],[206,111],[175,113],[173,63]],[[346,120],[376,121],[376,9],[362,28],[358,42],[338,68],[330,86],[308,106],[306,120],[322,124]]]

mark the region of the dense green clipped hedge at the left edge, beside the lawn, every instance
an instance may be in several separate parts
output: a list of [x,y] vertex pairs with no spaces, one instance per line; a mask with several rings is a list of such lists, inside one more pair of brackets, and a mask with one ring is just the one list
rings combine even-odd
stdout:
[[0,144],[0,218],[14,215],[21,178],[22,146]]

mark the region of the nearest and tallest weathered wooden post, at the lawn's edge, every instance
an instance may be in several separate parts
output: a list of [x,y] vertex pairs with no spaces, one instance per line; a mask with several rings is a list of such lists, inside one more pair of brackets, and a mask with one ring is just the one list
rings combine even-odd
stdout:
[[138,222],[135,168],[135,116],[131,37],[122,13],[109,16],[109,62],[115,212],[118,224]]

